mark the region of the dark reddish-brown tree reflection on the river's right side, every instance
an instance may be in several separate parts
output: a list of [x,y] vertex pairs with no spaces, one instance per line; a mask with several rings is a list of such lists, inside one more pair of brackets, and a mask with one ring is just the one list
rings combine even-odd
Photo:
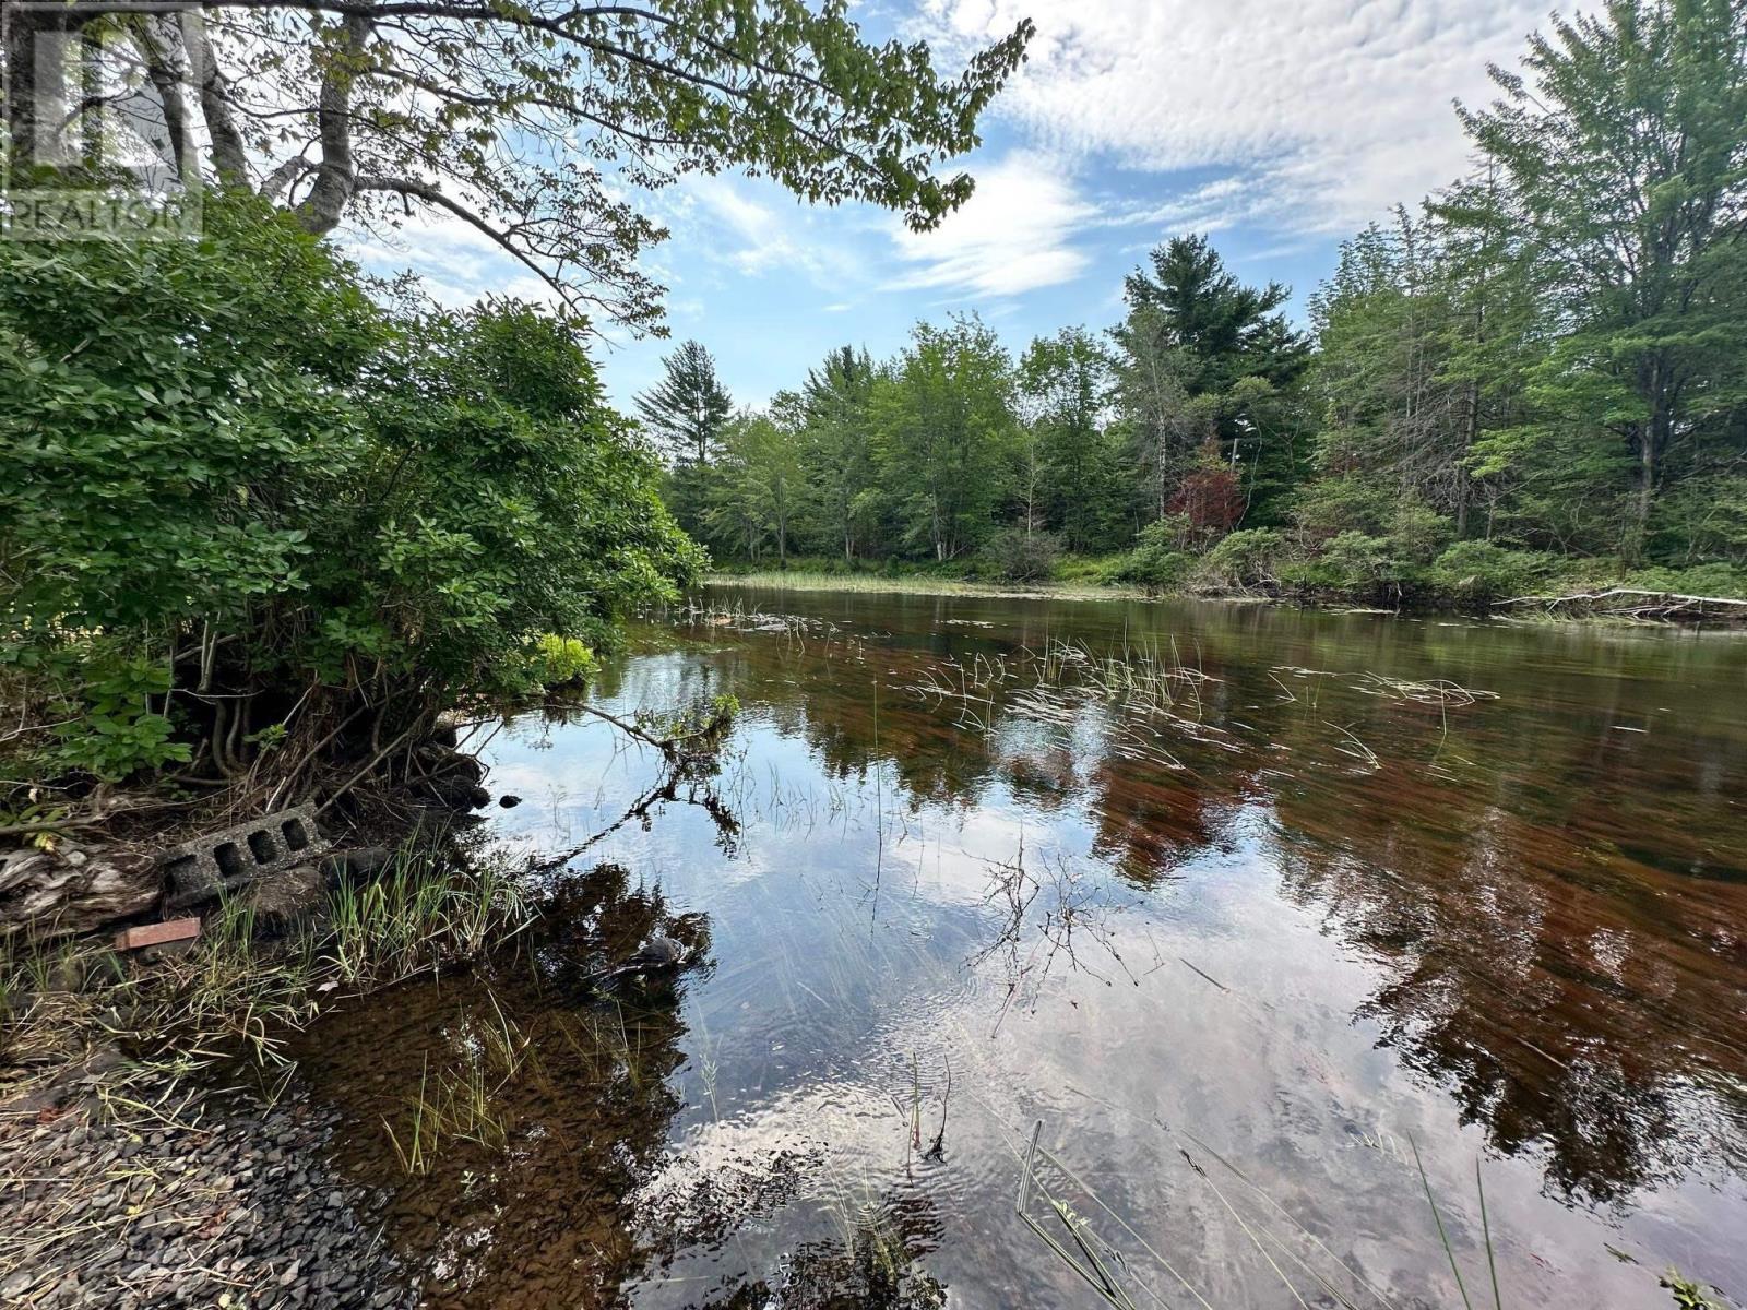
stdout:
[[[1043,650],[1048,624],[900,631],[851,662],[758,634],[720,650],[833,776],[884,769],[901,784],[887,803],[912,809],[1083,814],[1094,856],[1136,889],[1260,824],[1284,894],[1378,969],[1359,1018],[1497,1149],[1541,1153],[1551,1189],[1607,1202],[1733,1167],[1747,741],[1621,730],[1642,728],[1633,686],[1705,652],[1536,638],[1539,660],[1569,646],[1578,672],[1525,685],[1509,632],[1321,620],[1282,641],[1270,624],[1207,620],[1181,655],[1204,678],[1195,700],[1151,716],[1153,735],[1108,699],[1024,679],[917,690]],[[1452,704],[1371,674],[1391,667],[1513,685]]]

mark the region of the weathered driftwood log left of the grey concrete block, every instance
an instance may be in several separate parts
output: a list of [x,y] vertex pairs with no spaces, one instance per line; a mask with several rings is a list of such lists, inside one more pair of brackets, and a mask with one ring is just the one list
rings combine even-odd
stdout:
[[52,851],[0,854],[0,936],[91,933],[145,914],[164,889],[157,859],[142,851],[87,849],[61,838]]

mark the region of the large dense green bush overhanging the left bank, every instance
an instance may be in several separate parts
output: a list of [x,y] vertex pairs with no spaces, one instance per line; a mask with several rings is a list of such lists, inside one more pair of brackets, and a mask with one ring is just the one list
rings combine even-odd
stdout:
[[386,744],[699,566],[568,327],[379,306],[248,201],[206,224],[0,243],[0,660],[38,777]]

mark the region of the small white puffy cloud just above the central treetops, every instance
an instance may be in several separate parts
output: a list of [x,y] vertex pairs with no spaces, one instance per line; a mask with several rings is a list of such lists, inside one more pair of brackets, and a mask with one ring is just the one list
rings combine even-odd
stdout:
[[1099,211],[1059,161],[1013,152],[971,171],[977,190],[936,231],[896,231],[905,271],[887,290],[1019,295],[1080,276],[1088,257],[1073,245],[1073,234]]

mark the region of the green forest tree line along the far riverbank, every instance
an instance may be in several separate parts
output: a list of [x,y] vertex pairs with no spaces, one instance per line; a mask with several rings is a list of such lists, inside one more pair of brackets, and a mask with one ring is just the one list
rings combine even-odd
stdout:
[[718,561],[1150,589],[1747,594],[1747,14],[1616,3],[1459,108],[1473,171],[1309,297],[1204,236],[1108,330],[975,314],[737,409],[685,342],[638,398]]

